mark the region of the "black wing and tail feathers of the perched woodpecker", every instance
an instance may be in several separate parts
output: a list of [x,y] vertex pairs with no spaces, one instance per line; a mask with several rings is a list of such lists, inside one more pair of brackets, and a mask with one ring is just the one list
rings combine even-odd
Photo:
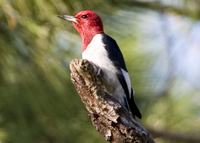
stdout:
[[141,118],[141,113],[139,111],[139,109],[137,108],[134,99],[133,99],[133,90],[131,88],[131,95],[129,96],[129,90],[128,90],[128,85],[126,83],[126,80],[123,76],[123,73],[121,71],[121,69],[127,71],[126,68],[126,64],[124,62],[124,58],[123,55],[117,45],[117,43],[115,42],[114,39],[112,39],[111,37],[109,37],[108,35],[104,34],[103,35],[103,43],[105,44],[105,49],[108,51],[109,53],[109,58],[111,59],[111,61],[113,62],[113,64],[115,65],[115,67],[117,67],[118,69],[118,74],[117,77],[124,89],[124,92],[126,94],[126,99],[125,99],[125,103],[128,102],[127,105],[127,109],[130,109],[132,114],[134,116],[137,116],[138,118]]

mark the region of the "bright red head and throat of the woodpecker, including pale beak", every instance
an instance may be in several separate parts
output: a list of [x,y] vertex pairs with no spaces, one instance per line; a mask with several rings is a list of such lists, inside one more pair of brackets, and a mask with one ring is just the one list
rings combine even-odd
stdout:
[[93,11],[81,11],[75,17],[59,15],[60,18],[72,21],[74,28],[80,33],[83,40],[82,51],[91,42],[96,34],[103,33],[101,18]]

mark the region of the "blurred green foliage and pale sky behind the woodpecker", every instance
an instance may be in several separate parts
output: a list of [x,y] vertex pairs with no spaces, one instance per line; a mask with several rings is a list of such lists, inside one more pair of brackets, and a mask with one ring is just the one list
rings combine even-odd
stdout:
[[199,134],[199,3],[1,0],[0,142],[105,142],[70,82],[69,62],[81,57],[81,39],[70,22],[56,17],[86,9],[102,17],[121,47],[141,122]]

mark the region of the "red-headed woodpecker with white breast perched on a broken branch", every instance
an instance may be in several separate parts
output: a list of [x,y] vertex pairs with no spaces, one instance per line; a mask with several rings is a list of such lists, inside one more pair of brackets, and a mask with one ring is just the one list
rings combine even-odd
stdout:
[[75,16],[57,16],[71,21],[79,32],[82,39],[82,59],[100,67],[107,91],[125,106],[134,118],[142,118],[134,102],[134,91],[124,57],[116,41],[104,33],[100,16],[90,10],[80,11]]

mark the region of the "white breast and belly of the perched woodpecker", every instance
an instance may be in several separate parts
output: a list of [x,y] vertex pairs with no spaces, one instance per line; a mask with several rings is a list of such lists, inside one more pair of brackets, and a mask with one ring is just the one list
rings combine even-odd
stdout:
[[115,87],[119,85],[116,75],[117,69],[113,65],[112,61],[108,58],[108,53],[105,49],[105,45],[102,42],[102,38],[102,34],[95,35],[91,43],[87,46],[87,49],[82,53],[82,58],[92,61],[103,70],[105,81],[104,84],[107,86],[107,90],[111,94],[114,94]]

